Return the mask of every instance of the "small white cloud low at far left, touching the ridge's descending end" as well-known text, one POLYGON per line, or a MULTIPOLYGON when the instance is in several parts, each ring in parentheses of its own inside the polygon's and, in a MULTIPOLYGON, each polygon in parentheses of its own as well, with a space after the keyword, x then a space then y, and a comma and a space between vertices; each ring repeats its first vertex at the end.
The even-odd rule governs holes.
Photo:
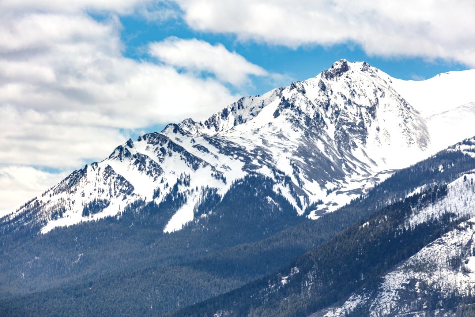
POLYGON ((45 192, 67 174, 49 173, 30 166, 0 166, 0 217, 15 211, 27 199, 45 192), (25 201, 19 202, 19 197, 24 197, 25 201))

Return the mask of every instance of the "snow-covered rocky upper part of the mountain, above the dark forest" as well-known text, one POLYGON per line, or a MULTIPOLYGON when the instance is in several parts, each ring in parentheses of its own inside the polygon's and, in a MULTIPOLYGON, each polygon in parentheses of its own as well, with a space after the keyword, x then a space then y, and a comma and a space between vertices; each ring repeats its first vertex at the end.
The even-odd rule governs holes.
POLYGON ((164 229, 172 232, 211 212, 197 213, 207 190, 223 196, 249 173, 273 178, 274 191, 299 214, 317 218, 395 169, 475 134, 475 93, 466 89, 475 71, 439 77, 406 82, 366 62, 337 61, 317 77, 243 97, 204 122, 189 118, 128 140, 0 226, 35 225, 47 233, 180 194, 181 207, 164 229))

